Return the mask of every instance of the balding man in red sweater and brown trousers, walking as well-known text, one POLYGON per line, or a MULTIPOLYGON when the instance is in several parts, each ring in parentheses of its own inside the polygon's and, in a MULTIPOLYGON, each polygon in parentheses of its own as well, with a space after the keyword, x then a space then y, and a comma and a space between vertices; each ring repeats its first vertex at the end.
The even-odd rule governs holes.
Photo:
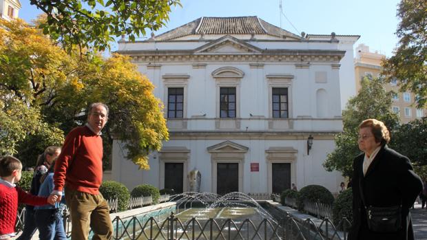
POLYGON ((94 232, 92 239, 112 239, 110 210, 99 193, 103 179, 101 130, 107 118, 107 105, 92 103, 87 123, 68 133, 56 160, 52 195, 60 201, 65 188, 65 201, 72 219, 72 240, 87 239, 90 228, 94 232))

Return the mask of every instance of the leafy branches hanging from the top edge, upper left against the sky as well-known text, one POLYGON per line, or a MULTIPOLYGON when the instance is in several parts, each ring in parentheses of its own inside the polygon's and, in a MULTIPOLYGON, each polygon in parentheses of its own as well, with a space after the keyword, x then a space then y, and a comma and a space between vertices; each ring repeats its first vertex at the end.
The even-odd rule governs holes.
POLYGON ((145 35, 146 29, 158 30, 169 20, 171 6, 180 0, 31 0, 47 14, 47 22, 40 25, 43 33, 58 39, 67 50, 105 50, 113 36, 127 34, 131 41, 145 35))

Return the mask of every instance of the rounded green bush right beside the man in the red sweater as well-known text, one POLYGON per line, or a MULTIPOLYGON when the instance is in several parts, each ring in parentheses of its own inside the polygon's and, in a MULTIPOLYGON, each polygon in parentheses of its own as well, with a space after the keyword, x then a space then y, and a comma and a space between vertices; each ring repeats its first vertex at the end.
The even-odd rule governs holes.
POLYGON ((125 185, 120 182, 105 181, 101 184, 101 187, 99 187, 99 191, 107 200, 118 199, 118 212, 127 210, 130 194, 125 185))

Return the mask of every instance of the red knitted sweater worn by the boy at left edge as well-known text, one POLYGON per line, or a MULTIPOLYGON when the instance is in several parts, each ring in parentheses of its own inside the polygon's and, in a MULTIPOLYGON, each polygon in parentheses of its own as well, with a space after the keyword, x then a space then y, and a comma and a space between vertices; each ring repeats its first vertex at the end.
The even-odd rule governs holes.
POLYGON ((0 184, 0 235, 15 232, 18 203, 42 206, 48 204, 48 198, 30 195, 19 187, 0 184))

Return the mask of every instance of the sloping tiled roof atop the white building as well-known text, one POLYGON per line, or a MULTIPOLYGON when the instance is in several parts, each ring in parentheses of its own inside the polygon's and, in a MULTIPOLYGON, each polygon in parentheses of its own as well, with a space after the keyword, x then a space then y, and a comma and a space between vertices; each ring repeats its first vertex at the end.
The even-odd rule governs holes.
POLYGON ((156 36, 156 40, 177 39, 191 34, 267 34, 272 36, 300 36, 276 27, 256 16, 250 17, 202 17, 178 28, 156 36))

